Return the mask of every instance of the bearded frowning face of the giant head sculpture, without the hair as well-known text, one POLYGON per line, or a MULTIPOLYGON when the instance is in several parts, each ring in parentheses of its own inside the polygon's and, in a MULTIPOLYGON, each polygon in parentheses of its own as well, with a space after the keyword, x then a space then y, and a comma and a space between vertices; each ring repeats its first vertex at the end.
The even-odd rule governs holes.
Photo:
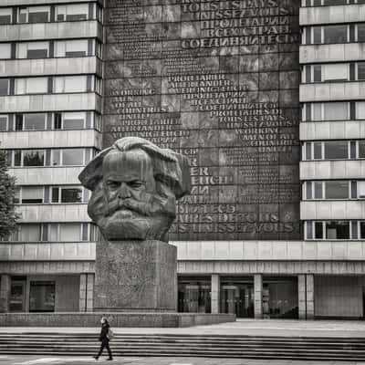
POLYGON ((175 197, 156 183, 151 157, 140 149, 110 151, 102 175, 89 202, 102 234, 109 240, 162 240, 174 219, 175 197))

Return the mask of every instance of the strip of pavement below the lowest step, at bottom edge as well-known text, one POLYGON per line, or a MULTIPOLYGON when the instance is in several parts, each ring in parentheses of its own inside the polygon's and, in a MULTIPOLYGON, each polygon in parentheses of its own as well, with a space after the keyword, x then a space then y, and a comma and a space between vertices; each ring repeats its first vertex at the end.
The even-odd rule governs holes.
POLYGON ((56 356, 1 356, 0 365, 358 365, 365 362, 354 361, 297 361, 297 360, 240 360, 208 358, 131 358, 120 357, 113 361, 100 358, 98 361, 89 357, 56 356))

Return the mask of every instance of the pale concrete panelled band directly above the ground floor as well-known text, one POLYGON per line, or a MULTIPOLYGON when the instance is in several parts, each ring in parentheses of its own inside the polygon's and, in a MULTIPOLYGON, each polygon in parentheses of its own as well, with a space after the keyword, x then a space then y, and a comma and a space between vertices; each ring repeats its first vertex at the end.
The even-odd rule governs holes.
MULTIPOLYGON (((179 241, 171 244, 177 246, 177 258, 181 261, 359 261, 365 255, 364 241, 179 241)), ((0 261, 83 260, 95 260, 95 243, 0 245, 0 261)))

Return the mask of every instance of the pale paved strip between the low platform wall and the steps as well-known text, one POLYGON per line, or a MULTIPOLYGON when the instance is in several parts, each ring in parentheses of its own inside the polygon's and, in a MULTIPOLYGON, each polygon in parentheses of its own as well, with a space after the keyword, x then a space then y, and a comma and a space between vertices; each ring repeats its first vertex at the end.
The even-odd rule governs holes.
MULTIPOLYGON (((112 320, 110 321, 112 327, 112 320)), ((113 328, 113 327, 112 327, 113 328)), ((233 323, 193 328, 113 328, 116 334, 169 334, 275 337, 351 337, 365 338, 365 321, 237 319, 233 323)), ((98 333, 95 328, 18 328, 3 327, 0 333, 98 333)))

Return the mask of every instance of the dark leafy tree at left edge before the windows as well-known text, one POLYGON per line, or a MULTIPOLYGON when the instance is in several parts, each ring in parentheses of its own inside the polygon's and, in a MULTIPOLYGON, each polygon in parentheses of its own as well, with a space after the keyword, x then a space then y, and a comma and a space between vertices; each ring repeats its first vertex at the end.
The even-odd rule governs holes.
POLYGON ((0 151, 0 238, 16 230, 16 178, 10 176, 5 151, 0 151))

